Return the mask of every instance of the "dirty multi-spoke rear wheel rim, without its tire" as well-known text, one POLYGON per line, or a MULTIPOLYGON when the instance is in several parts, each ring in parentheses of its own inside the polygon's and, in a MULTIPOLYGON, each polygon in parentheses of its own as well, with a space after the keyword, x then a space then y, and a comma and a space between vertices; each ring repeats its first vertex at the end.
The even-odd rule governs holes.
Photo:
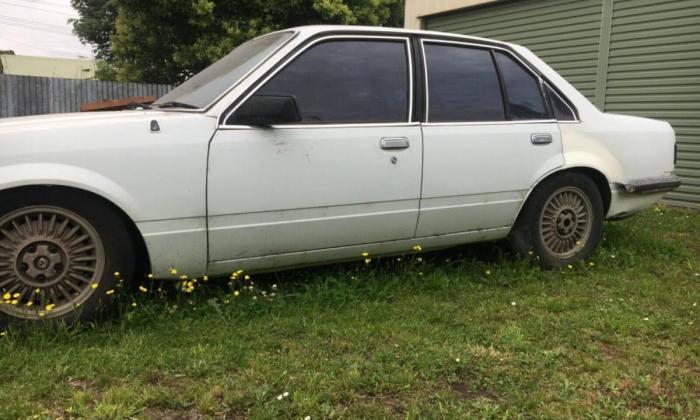
POLYGON ((578 188, 560 188, 547 199, 540 216, 540 235, 549 252, 568 258, 581 251, 591 236, 593 206, 578 188))

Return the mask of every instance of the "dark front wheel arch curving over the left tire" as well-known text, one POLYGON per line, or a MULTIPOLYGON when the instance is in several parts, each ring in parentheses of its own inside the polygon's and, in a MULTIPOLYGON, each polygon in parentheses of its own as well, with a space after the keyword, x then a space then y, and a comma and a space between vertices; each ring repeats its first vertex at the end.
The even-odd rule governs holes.
POLYGON ((146 246, 146 241, 136 226, 136 222, 127 214, 127 212, 119 205, 114 203, 112 200, 104 197, 101 194, 89 191, 83 188, 78 188, 74 186, 67 186, 61 184, 28 184, 13 186, 9 188, 4 188, 0 190, 0 200, 2 197, 15 193, 15 194, 41 194, 47 190, 52 191, 63 190, 65 193, 74 193, 86 197, 89 200, 100 201, 104 205, 110 207, 114 212, 120 217, 120 219, 127 226, 129 237, 131 238, 132 244, 134 245, 134 251, 136 253, 136 269, 137 274, 149 273, 151 269, 151 259, 146 246))

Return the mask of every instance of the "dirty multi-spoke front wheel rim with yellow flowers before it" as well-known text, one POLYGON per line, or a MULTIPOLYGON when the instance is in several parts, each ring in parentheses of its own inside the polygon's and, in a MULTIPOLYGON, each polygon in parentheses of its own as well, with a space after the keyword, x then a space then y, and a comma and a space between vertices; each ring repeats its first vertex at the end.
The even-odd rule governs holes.
POLYGON ((0 219, 0 311, 17 318, 74 311, 102 278, 97 231, 57 207, 26 207, 0 219))

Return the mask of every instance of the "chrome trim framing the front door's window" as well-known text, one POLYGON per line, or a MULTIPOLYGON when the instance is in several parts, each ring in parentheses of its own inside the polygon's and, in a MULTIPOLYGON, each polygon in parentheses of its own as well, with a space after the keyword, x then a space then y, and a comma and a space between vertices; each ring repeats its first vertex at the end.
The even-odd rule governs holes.
POLYGON ((345 40, 390 40, 390 41, 403 41, 404 48, 406 51, 406 68, 408 70, 408 80, 406 87, 408 89, 408 109, 407 109, 407 114, 406 114, 406 121, 395 121, 395 122, 387 122, 387 123, 315 123, 315 124, 280 124, 280 125, 273 125, 272 128, 343 128, 343 127, 387 127, 387 126, 406 126, 406 125, 414 125, 416 124, 413 119, 413 101, 414 101, 414 86, 413 86, 413 80, 414 80, 414 69, 413 69, 413 49, 411 48, 411 37, 410 36, 393 36, 393 35, 349 35, 349 34, 343 34, 343 35, 324 35, 318 38, 313 39, 311 42, 307 43, 306 45, 300 47, 297 51, 295 51, 291 56, 288 58, 284 59, 281 61, 280 64, 277 65, 273 71, 268 73, 267 75, 261 77, 260 79, 256 80, 253 86, 249 89, 249 92, 246 93, 244 96, 241 97, 241 99, 236 98, 236 104, 233 106, 230 110, 225 111, 224 117, 219 118, 219 128, 222 129, 259 129, 259 127, 254 127, 251 125, 241 125, 241 124, 226 124, 226 121, 233 115, 238 108, 243 105, 251 96, 255 95, 255 93, 260 90, 260 88, 265 85, 270 79, 272 79, 277 73, 285 69, 292 61, 294 61, 298 56, 309 50, 311 47, 314 45, 317 45, 319 43, 328 41, 328 40, 333 40, 333 39, 345 39, 345 40))

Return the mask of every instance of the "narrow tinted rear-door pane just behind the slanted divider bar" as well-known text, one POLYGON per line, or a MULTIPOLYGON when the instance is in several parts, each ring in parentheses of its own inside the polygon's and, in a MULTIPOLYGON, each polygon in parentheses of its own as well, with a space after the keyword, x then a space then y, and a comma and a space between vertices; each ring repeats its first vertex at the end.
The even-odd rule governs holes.
POLYGON ((508 55, 496 52, 495 56, 506 88, 510 119, 548 119, 537 78, 508 55))

